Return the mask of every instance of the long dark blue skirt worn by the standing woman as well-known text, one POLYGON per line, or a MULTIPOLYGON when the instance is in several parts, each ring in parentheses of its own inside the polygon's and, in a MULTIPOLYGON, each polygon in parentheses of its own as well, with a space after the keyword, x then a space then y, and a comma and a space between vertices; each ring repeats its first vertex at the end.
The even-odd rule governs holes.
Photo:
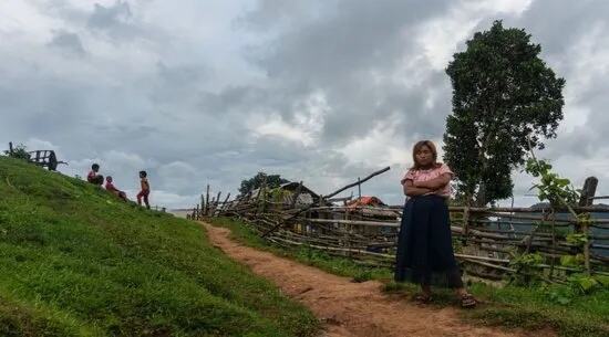
POLYGON ((395 254, 395 281, 463 287, 453 253, 445 198, 419 196, 404 206, 395 254))

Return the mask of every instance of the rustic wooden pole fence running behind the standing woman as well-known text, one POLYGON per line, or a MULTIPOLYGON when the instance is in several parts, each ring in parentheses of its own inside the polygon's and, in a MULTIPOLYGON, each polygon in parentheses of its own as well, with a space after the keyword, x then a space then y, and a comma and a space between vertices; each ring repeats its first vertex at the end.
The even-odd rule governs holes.
MULTIPOLYGON (((402 207, 328 202, 336 194, 303 206, 295 201, 298 191, 291 199, 277 200, 261 188, 255 196, 231 201, 227 196, 219 201, 220 193, 209 200, 208 187, 188 218, 235 217, 273 244, 306 246, 363 265, 391 267, 402 207)), ((585 222, 550 208, 448 207, 455 255, 466 274, 493 281, 528 275, 562 283, 571 273, 609 275, 609 208, 586 202, 574 208, 577 214, 591 215, 585 222), (534 259, 526 262, 525 257, 534 259)))

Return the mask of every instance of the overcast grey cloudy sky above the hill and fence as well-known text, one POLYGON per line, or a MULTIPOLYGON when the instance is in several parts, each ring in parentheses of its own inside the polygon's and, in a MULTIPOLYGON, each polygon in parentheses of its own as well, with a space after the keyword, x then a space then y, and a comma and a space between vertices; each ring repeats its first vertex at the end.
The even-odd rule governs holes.
POLYGON ((100 162, 132 198, 146 169, 167 207, 257 171, 328 193, 391 166, 363 192, 400 203, 413 143, 441 141, 447 62, 497 19, 567 81, 539 155, 609 194, 606 0, 2 0, 0 148, 55 149, 70 176, 100 162))

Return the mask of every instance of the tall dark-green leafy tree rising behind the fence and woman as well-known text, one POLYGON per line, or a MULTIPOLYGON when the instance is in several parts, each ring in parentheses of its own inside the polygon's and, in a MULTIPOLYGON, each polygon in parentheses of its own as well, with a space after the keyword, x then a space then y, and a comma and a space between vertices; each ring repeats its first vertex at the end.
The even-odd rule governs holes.
POLYGON ((562 119, 562 87, 539 59, 541 48, 523 29, 495 21, 476 32, 446 73, 453 112, 446 119, 444 160, 457 177, 457 193, 485 206, 512 196, 512 169, 524 164, 541 138, 556 137, 562 119))

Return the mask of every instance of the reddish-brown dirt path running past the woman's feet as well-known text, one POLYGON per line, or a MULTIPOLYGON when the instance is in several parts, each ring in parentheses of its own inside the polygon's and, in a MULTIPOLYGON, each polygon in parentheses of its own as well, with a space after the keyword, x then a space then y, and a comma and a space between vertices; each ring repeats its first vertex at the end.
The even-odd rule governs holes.
POLYGON ((505 337, 505 333, 462 322, 457 309, 421 307, 391 298, 381 283, 352 283, 349 278, 241 245, 228 238, 229 230, 204 224, 211 243, 248 265, 254 273, 277 284, 288 296, 308 306, 324 322, 328 337, 467 336, 505 337))

